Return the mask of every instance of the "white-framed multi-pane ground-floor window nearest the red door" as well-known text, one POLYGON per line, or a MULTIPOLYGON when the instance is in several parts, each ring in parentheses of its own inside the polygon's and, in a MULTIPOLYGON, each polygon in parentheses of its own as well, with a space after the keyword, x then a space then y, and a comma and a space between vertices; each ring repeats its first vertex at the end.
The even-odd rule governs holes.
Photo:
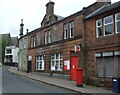
POLYGON ((60 53, 51 55, 51 70, 63 70, 63 61, 60 53))

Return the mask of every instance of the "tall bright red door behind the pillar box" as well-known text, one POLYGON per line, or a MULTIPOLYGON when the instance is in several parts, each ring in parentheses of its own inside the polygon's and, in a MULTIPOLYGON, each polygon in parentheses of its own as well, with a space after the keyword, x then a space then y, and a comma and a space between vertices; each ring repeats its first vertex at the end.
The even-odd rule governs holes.
POLYGON ((78 53, 70 53, 70 80, 76 80, 76 69, 78 68, 78 53))

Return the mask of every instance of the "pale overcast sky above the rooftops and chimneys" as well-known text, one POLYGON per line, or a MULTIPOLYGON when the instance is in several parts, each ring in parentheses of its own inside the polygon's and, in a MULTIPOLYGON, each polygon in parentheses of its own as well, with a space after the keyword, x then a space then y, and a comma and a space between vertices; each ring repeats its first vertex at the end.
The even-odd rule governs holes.
MULTIPOLYGON (((54 14, 67 17, 96 0, 51 0, 55 3, 54 14)), ((111 0, 112 3, 119 0, 111 0)), ((0 34, 10 33, 19 36, 20 23, 23 19, 24 34, 39 28, 46 13, 49 0, 0 0, 0 34)))

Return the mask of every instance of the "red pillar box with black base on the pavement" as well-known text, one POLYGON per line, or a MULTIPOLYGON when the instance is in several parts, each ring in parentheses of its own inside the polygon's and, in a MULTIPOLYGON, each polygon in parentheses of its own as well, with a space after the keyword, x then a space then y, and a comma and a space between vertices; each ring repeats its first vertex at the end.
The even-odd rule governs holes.
POLYGON ((77 68, 76 86, 83 87, 83 68, 77 68))

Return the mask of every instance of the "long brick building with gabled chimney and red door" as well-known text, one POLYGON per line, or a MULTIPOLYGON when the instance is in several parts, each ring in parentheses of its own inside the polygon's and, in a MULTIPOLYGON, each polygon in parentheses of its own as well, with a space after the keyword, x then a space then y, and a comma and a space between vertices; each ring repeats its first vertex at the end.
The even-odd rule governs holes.
POLYGON ((70 80, 76 80, 76 68, 82 64, 82 58, 74 48, 79 50, 84 45, 83 20, 108 3, 96 2, 63 18, 54 14, 54 2, 48 2, 41 27, 28 33, 28 57, 32 71, 70 74, 70 80))

